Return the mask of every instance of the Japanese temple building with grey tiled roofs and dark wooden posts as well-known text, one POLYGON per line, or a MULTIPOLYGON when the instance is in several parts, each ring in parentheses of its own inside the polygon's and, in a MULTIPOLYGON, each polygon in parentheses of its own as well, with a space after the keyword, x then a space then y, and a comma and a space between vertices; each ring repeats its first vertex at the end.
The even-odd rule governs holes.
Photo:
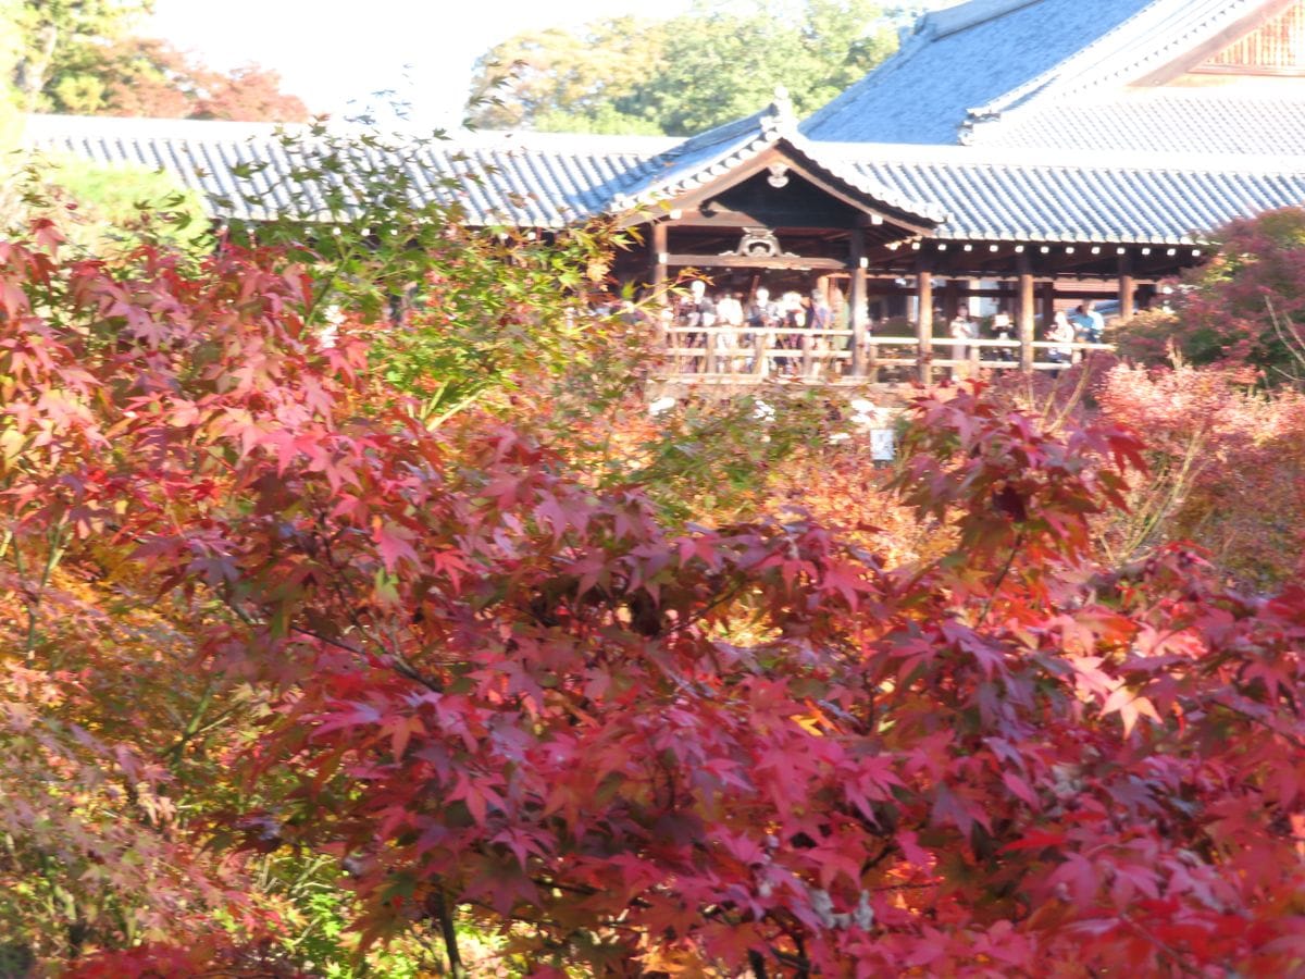
MULTIPOLYGON (((218 219, 257 217, 249 162, 271 164, 258 206, 284 200, 271 127, 43 116, 29 138, 163 167, 218 219)), ((745 298, 820 290, 857 376, 877 321, 908 324, 924 364, 934 309, 975 300, 1010 312, 1028 369, 1057 308, 1130 316, 1220 226, 1305 204, 1305 0, 970 0, 806 119, 778 91, 685 140, 470 134, 411 166, 432 193, 462 180, 472 222, 639 227, 616 274, 654 290, 686 268, 745 298)))

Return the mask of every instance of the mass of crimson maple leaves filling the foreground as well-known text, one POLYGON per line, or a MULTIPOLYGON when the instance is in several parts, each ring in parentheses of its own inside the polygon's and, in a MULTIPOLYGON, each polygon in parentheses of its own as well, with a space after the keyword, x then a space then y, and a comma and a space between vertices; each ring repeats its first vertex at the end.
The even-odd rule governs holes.
MULTIPOLYGON (((536 975, 1305 967, 1305 591, 1098 565, 1128 432, 919 399, 898 491, 957 544, 914 564, 799 512, 671 527, 377 397, 368 325, 321 343, 270 251, 40 234, 0 251, 10 595, 40 611, 64 542, 268 707, 249 795, 179 833, 330 854, 364 940, 433 922, 455 959, 463 909, 536 975)), ((72 974, 179 974, 177 928, 72 974)))

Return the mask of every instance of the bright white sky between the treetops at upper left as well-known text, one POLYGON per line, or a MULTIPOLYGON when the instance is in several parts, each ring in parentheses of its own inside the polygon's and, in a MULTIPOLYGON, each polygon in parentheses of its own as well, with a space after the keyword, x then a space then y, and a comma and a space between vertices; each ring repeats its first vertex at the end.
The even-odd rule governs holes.
POLYGON ((412 103, 415 124, 452 128, 462 121, 472 63, 500 40, 622 13, 671 17, 688 7, 689 0, 155 0, 142 33, 214 68, 247 61, 274 68, 282 90, 313 112, 356 115, 371 93, 394 89, 412 103))

